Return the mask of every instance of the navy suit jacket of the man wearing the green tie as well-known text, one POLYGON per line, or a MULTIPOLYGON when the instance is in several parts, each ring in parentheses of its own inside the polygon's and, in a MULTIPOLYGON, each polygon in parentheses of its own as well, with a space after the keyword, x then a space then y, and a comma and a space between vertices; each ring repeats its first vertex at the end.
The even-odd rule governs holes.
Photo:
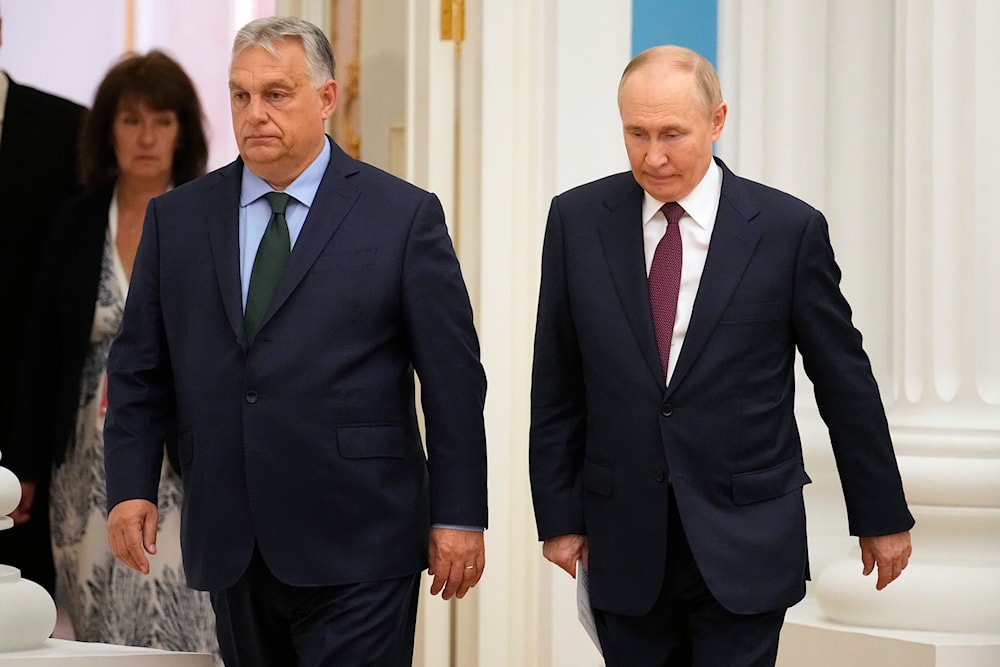
POLYGON ((150 203, 109 360, 108 506, 155 499, 176 427, 195 588, 235 582, 254 543, 296 586, 416 573, 432 521, 486 526, 486 381, 440 203, 334 144, 251 346, 242 169, 150 203))

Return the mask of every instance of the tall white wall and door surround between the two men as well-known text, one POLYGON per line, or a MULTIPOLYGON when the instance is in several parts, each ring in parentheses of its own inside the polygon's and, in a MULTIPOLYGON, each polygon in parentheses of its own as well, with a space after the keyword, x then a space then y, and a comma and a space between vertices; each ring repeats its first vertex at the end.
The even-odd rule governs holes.
POLYGON ((605 0, 484 0, 481 24, 469 27, 470 40, 481 32, 481 51, 474 43, 463 49, 463 60, 480 59, 478 118, 461 119, 463 142, 477 150, 474 161, 461 153, 459 197, 477 201, 477 219, 463 213, 461 224, 479 227, 490 529, 486 575, 475 593, 478 646, 458 665, 603 664, 576 619, 573 580, 541 557, 528 484, 528 398, 549 201, 627 168, 615 100, 630 55, 630 8, 605 0), (478 178, 471 187, 470 178, 478 178))

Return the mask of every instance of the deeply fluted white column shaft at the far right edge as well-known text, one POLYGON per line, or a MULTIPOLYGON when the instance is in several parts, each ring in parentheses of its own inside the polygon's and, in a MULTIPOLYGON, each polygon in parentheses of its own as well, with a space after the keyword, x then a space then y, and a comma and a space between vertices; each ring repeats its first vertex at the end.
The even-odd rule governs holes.
POLYGON ((1000 234, 992 184, 978 178, 986 165, 975 158, 995 162, 1000 150, 1000 135, 987 129, 1000 92, 978 85, 989 82, 984 70, 995 80, 1000 69, 1000 12, 995 3, 938 0, 903 3, 897 19, 890 418, 911 502, 1000 510, 1000 234), (914 78, 920 85, 905 85, 914 78), (955 478, 944 479, 937 458, 952 459, 955 478))

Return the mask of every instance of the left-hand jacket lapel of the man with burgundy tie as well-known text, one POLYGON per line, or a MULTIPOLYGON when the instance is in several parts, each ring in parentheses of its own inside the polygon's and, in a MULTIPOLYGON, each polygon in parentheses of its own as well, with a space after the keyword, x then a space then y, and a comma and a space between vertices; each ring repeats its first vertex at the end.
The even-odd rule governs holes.
POLYGON ((605 199, 604 205, 609 214, 598 222, 597 232, 625 317, 653 379, 662 385, 663 369, 649 307, 649 283, 642 239, 642 199, 642 188, 628 174, 627 185, 605 199))

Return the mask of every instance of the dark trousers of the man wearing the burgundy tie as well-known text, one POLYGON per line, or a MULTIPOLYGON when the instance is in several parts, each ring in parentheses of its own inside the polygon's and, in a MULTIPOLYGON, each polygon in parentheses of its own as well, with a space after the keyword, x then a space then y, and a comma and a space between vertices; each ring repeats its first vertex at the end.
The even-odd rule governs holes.
POLYGON ((653 609, 644 616, 594 610, 607 666, 773 667, 785 610, 726 610, 702 579, 673 492, 667 521, 666 573, 653 609))

